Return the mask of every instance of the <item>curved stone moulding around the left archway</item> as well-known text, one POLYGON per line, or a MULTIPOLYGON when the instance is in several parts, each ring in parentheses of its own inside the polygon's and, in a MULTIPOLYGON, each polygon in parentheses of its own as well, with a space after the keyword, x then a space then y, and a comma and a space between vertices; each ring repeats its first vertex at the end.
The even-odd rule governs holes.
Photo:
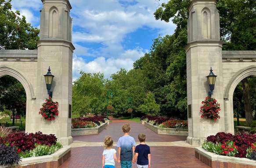
POLYGON ((20 73, 16 68, 10 66, 0 66, 0 77, 3 77, 5 75, 16 78, 22 84, 26 91, 27 98, 30 98, 31 100, 36 99, 32 85, 29 84, 25 76, 20 73))

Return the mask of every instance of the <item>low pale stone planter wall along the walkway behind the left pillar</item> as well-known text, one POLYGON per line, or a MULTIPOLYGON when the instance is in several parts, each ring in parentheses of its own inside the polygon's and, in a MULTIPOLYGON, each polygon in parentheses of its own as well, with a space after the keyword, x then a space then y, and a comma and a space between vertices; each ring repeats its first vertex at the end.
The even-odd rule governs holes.
POLYGON ((72 136, 80 136, 80 135, 92 135, 98 134, 103 131, 108 126, 108 123, 103 123, 101 126, 96 126, 94 128, 76 128, 71 129, 72 136))

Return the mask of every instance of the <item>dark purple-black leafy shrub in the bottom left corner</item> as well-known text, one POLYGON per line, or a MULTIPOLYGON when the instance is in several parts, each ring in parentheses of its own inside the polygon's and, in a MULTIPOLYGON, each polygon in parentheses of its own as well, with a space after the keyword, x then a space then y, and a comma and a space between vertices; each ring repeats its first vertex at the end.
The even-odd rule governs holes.
POLYGON ((15 147, 0 144, 0 166, 8 166, 18 164, 20 157, 15 147))

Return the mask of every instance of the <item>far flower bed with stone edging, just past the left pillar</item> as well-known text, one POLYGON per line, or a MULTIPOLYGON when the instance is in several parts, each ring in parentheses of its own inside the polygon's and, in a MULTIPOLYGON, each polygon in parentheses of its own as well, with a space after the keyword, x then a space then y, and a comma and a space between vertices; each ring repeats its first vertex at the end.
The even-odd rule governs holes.
POLYGON ((108 123, 104 116, 81 117, 72 119, 72 136, 91 135, 100 133, 108 123))

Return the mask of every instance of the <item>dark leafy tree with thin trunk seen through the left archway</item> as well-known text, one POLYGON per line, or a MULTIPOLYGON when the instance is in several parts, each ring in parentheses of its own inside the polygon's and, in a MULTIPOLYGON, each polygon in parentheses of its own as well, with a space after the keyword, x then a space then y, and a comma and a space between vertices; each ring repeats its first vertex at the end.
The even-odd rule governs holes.
POLYGON ((11 110, 12 125, 14 126, 15 115, 25 115, 26 93, 22 84, 11 76, 0 78, 0 108, 11 110))

